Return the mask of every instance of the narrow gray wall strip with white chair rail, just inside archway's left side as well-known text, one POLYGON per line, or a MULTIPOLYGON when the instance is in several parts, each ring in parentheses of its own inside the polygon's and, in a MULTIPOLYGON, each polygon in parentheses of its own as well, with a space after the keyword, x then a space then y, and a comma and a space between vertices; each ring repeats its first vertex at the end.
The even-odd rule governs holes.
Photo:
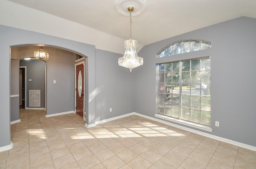
MULTIPOLYGON (((20 75, 20 69, 19 69, 19 60, 11 60, 11 95, 19 95, 19 75, 20 75), (18 79, 18 81, 17 81, 18 79)), ((14 96, 10 98, 11 105, 11 122, 15 120, 20 119, 20 100, 19 96, 14 96)))

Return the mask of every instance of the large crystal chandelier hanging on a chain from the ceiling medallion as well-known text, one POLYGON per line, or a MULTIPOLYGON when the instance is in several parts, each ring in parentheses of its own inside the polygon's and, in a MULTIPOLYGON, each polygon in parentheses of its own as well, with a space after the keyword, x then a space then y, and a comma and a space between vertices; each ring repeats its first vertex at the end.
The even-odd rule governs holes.
POLYGON ((132 39, 132 11, 133 10, 134 10, 134 7, 132 6, 128 7, 128 11, 130 12, 130 39, 127 39, 124 41, 124 47, 126 48, 126 50, 125 50, 124 56, 118 59, 118 64, 120 66, 130 69, 130 72, 132 72, 133 68, 143 65, 143 58, 138 57, 136 53, 137 41, 135 39, 132 39))

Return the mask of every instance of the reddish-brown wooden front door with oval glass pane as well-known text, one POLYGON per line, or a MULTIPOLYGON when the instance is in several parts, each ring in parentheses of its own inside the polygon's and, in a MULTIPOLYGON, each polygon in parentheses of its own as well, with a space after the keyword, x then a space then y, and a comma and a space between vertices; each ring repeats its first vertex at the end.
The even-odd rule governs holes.
POLYGON ((84 117, 84 65, 76 65, 76 114, 84 117))

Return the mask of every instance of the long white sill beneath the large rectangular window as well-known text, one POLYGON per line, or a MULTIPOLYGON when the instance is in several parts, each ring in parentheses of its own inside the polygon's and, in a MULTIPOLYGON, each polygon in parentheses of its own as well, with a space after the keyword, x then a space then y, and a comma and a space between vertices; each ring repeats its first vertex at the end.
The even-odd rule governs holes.
POLYGON ((198 129, 201 129, 201 130, 206 130, 208 132, 212 132, 212 128, 210 128, 209 126, 204 126, 202 124, 187 122, 185 120, 180 120, 180 119, 164 116, 162 114, 154 114, 154 116, 157 117, 157 118, 162 118, 164 120, 171 121, 171 122, 176 122, 176 123, 183 124, 183 125, 186 125, 186 126, 190 126, 190 127, 198 128, 198 129))

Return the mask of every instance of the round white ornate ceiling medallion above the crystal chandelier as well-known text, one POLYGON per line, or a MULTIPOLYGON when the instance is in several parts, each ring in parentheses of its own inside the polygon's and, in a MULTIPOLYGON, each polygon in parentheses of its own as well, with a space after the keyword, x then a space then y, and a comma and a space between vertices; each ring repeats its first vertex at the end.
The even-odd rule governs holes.
POLYGON ((133 7, 132 16, 138 16, 146 10, 147 2, 145 0, 116 0, 114 6, 116 11, 123 16, 130 16, 127 9, 133 7))

